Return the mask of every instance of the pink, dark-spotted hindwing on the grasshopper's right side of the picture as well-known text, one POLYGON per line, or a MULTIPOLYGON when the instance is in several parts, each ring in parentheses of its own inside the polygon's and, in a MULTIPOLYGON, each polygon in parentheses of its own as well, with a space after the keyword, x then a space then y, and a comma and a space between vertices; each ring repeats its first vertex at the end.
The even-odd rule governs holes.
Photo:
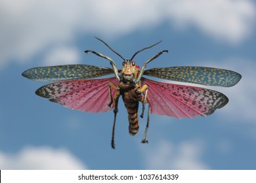
POLYGON ((148 85, 147 100, 154 114, 176 118, 208 116, 228 103, 223 93, 194 86, 168 84, 142 78, 148 85))

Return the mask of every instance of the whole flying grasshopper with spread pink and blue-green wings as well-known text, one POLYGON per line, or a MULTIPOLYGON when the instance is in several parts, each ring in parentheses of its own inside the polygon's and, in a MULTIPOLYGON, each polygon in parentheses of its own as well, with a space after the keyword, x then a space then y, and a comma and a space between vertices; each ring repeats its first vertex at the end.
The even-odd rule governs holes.
MULTIPOLYGON (((98 40, 108 46, 106 42, 101 39, 98 40)), ((139 131, 139 103, 142 103, 141 118, 144 116, 145 105, 148 103, 147 124, 142 143, 148 142, 146 135, 150 113, 175 118, 194 118, 196 116, 208 116, 228 103, 228 98, 223 93, 214 90, 157 82, 144 78, 142 75, 223 87, 234 86, 242 77, 234 71, 211 67, 165 67, 146 70, 150 61, 158 58, 164 52, 168 52, 167 50, 158 52, 158 54, 145 61, 140 69, 133 58, 139 52, 152 48, 152 46, 135 52, 131 59, 124 59, 108 46, 110 50, 123 59, 121 70, 117 69, 116 63, 108 56, 93 50, 85 50, 86 53, 91 52, 96 56, 107 59, 110 61, 112 68, 94 65, 57 65, 35 67, 24 71, 22 75, 35 81, 54 81, 52 84, 42 86, 35 93, 65 107, 84 112, 106 112, 113 108, 112 148, 115 148, 114 133, 120 96, 127 108, 129 133, 131 135, 136 135, 139 131), (114 74, 114 77, 91 79, 110 74, 114 74)))

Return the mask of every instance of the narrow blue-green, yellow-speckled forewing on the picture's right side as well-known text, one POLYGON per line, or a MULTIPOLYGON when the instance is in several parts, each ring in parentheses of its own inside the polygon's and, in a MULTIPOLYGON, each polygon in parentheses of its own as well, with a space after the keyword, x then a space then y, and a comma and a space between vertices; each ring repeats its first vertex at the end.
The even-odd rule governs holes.
POLYGON ((234 86, 242 77, 234 71, 225 69, 191 66, 148 69, 144 71, 144 75, 179 82, 224 87, 234 86))

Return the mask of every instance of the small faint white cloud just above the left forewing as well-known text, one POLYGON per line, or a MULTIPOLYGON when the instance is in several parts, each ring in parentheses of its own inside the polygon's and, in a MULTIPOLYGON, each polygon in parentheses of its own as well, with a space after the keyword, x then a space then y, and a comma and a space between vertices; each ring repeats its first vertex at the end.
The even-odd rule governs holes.
POLYGON ((54 48, 45 55, 45 65, 64 65, 79 62, 79 52, 75 48, 54 48))

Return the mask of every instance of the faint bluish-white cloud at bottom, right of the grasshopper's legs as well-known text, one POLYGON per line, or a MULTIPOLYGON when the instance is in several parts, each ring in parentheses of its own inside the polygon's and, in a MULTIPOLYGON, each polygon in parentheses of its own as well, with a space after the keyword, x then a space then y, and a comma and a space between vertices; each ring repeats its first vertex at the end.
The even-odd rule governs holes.
POLYGON ((142 150, 146 169, 209 169, 203 163, 202 142, 184 141, 174 145, 160 141, 158 146, 142 150))

